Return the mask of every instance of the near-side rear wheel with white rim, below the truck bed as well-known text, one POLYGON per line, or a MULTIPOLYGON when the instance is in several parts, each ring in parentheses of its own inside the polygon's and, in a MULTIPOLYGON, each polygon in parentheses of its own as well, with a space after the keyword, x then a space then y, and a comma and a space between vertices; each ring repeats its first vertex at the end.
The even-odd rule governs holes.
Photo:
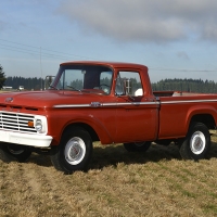
POLYGON ((180 155, 183 159, 206 158, 210 149, 210 135, 208 128, 202 123, 193 123, 187 137, 180 144, 180 155))

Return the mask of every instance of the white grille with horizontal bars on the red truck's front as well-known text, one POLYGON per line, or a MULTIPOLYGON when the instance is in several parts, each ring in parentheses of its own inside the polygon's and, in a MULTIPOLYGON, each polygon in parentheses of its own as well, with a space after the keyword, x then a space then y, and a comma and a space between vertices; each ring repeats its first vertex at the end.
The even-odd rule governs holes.
POLYGON ((0 112, 0 129, 36 133, 36 129, 28 126, 28 122, 34 122, 34 115, 0 112))

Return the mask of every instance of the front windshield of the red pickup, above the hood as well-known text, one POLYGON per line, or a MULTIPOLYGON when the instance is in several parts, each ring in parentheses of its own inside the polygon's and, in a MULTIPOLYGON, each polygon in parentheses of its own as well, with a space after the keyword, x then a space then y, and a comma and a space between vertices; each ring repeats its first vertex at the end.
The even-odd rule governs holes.
POLYGON ((51 88, 110 94, 113 71, 105 66, 61 65, 51 88))

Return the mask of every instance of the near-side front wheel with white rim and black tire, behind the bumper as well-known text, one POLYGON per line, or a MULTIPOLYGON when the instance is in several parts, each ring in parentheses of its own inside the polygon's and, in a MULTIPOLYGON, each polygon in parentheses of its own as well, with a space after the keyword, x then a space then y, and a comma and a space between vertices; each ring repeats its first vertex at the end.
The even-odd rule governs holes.
POLYGON ((64 132, 61 143, 51 149, 53 166, 65 174, 87 170, 92 156, 92 140, 82 128, 72 128, 64 132))

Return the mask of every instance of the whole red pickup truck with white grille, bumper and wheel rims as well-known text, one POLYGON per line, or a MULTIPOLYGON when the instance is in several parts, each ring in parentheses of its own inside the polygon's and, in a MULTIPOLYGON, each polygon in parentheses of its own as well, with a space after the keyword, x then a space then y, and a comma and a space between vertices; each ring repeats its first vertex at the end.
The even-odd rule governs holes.
POLYGON ((216 123, 217 94, 153 92, 144 65, 67 62, 49 90, 0 94, 0 158, 47 151, 56 169, 73 173, 87 169, 101 141, 138 152, 175 142, 184 159, 201 159, 216 123))

